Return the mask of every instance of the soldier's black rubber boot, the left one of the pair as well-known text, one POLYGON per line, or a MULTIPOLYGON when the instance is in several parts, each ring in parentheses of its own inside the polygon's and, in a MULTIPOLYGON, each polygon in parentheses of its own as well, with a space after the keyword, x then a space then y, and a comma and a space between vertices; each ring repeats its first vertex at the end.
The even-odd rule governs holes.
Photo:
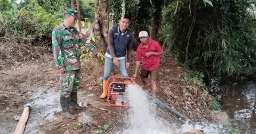
POLYGON ((60 106, 66 118, 72 120, 76 118, 76 116, 70 112, 70 97, 60 97, 60 106))

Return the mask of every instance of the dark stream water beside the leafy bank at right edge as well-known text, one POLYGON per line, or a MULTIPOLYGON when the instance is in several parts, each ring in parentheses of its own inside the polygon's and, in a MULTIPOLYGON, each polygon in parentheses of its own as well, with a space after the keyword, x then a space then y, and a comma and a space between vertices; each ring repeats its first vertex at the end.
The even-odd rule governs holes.
POLYGON ((218 98, 240 133, 256 133, 256 83, 228 81, 218 98))

